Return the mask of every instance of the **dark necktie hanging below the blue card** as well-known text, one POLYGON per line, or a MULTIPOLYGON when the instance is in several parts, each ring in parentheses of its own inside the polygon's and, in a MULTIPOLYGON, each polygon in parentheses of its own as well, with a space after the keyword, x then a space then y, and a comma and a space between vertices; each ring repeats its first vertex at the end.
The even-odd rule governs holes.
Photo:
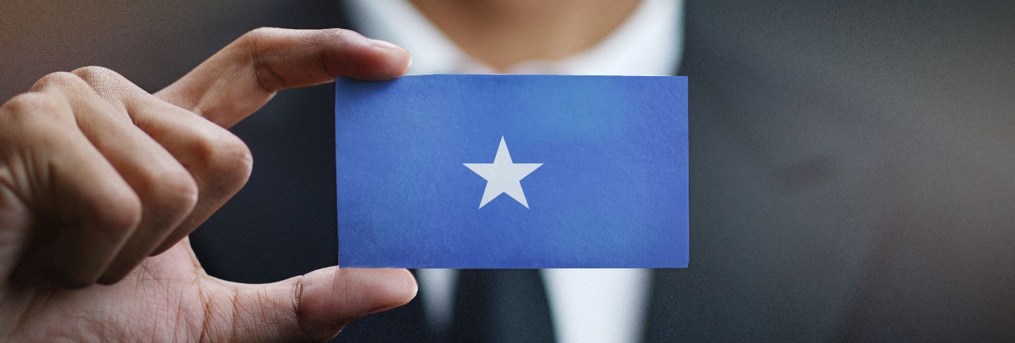
POLYGON ((466 269, 458 275, 448 342, 554 341, 539 270, 466 269))

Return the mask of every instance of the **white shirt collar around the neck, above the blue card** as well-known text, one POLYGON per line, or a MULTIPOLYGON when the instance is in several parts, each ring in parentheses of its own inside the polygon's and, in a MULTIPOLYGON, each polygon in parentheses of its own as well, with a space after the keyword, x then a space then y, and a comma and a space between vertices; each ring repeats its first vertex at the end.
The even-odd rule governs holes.
MULTIPOLYGON (((461 51, 405 0, 348 0, 365 36, 412 52, 410 74, 492 73, 461 51)), ((642 0, 630 17, 589 50, 558 61, 526 61, 513 74, 670 75, 683 44, 683 0, 642 0)))

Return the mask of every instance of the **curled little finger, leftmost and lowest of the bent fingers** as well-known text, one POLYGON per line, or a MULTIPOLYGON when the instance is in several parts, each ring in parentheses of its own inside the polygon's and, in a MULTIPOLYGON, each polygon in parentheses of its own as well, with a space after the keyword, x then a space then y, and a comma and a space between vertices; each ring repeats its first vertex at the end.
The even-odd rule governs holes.
POLYGON ((94 283, 141 220, 141 201, 74 123, 54 91, 8 101, 4 149, 23 176, 13 188, 41 219, 15 274, 71 286, 94 283), (13 104, 13 105, 11 105, 13 104))

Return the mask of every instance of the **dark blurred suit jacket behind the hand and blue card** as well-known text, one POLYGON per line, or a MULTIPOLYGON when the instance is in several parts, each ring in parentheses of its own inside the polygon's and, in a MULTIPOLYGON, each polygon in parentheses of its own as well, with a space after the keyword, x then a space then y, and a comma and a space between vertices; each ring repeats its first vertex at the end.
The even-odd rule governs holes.
MULTIPOLYGON (((336 1, 285 3, 207 21, 188 35, 215 44, 164 68, 260 25, 342 24, 336 1)), ((646 340, 1015 340, 1013 13, 688 0, 690 266, 655 272, 646 340)), ((332 89, 283 92, 233 129, 255 169, 192 235, 212 275, 335 264, 332 89)), ((418 306, 340 338, 422 340, 418 306)))

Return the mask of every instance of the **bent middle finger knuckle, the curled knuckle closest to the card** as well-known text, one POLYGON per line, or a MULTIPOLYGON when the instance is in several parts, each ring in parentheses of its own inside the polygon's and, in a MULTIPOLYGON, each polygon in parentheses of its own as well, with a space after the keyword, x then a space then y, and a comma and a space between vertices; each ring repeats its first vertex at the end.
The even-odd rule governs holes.
POLYGON ((204 166, 209 185, 231 193, 247 184, 254 165, 250 148, 224 129, 206 134, 194 142, 194 152, 204 166))

